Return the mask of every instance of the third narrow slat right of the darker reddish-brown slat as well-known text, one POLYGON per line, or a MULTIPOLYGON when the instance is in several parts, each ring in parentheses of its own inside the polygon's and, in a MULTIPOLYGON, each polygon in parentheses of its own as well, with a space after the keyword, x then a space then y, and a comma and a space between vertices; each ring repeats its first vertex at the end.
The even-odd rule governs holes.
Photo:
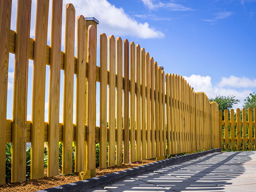
POLYGON ((146 78, 145 49, 140 50, 141 82, 141 159, 146 159, 146 78))

